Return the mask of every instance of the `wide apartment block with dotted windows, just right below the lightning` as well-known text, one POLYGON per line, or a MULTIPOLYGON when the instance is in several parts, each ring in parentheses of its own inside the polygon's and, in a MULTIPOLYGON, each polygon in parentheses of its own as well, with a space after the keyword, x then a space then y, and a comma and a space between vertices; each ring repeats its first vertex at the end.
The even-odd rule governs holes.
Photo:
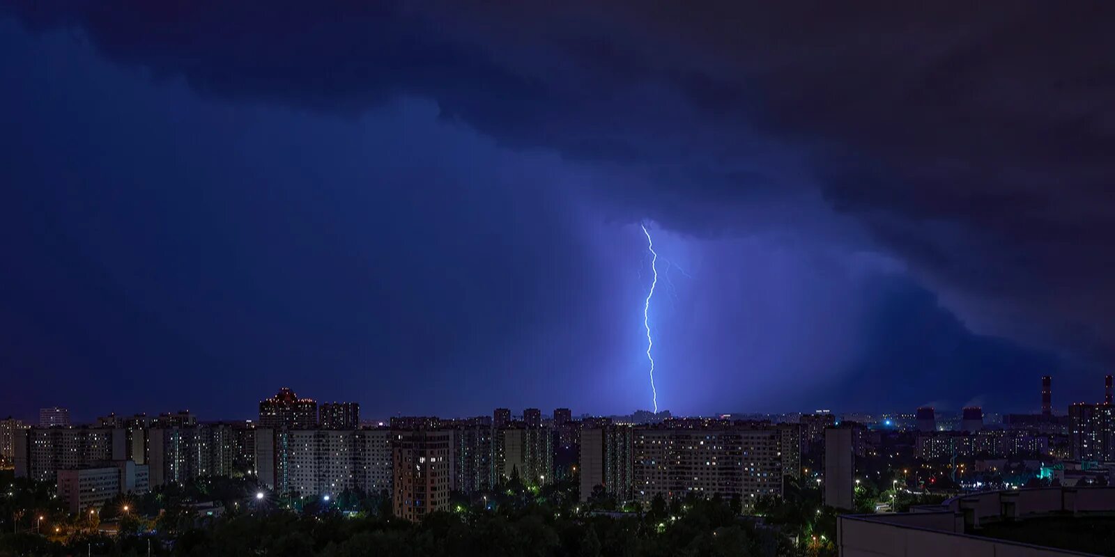
POLYGON ((688 495, 739 496, 749 508, 758 497, 782 496, 782 432, 775 428, 712 426, 634 429, 634 499, 649 505, 688 495))

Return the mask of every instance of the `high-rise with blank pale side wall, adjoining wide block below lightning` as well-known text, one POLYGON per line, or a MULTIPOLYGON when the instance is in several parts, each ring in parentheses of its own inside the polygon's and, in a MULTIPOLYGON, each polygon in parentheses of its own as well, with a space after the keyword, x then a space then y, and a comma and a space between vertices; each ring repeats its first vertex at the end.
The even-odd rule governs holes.
POLYGON ((588 500, 598 486, 620 502, 632 498, 633 442, 634 430, 631 426, 605 426, 581 431, 578 462, 581 467, 582 501, 588 500))

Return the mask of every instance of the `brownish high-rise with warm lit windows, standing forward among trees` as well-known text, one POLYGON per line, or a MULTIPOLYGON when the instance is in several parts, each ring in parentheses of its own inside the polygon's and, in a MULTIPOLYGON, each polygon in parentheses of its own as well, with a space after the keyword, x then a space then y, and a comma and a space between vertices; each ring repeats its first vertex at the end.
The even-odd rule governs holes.
POLYGON ((449 508, 452 431, 405 431, 394 447, 395 516, 418 521, 449 508))

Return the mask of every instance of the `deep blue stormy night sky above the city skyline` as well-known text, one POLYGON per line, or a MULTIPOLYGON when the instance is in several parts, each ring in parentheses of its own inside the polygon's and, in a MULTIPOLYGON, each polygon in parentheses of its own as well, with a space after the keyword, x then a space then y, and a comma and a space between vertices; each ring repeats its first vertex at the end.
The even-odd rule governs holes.
POLYGON ((755 6, 0 0, 0 414, 1098 400, 1115 4, 755 6))

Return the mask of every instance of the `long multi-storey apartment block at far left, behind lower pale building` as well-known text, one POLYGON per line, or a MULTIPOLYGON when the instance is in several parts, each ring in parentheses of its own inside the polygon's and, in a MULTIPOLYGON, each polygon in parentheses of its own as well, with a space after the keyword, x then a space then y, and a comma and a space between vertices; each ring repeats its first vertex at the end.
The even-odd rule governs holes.
POLYGON ((123 429, 30 428, 14 437, 17 478, 55 481, 58 470, 99 467, 125 460, 123 429))

